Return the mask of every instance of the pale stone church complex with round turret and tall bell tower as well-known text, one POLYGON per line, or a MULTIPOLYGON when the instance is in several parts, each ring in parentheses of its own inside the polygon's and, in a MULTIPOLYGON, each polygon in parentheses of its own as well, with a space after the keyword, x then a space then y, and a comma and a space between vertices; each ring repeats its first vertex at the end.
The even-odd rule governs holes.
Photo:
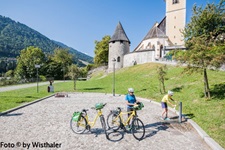
POLYGON ((156 22, 143 40, 130 52, 130 40, 121 22, 118 23, 109 41, 108 72, 113 68, 133 66, 161 61, 166 53, 174 49, 185 49, 181 31, 186 24, 186 0, 164 0, 166 14, 156 22))

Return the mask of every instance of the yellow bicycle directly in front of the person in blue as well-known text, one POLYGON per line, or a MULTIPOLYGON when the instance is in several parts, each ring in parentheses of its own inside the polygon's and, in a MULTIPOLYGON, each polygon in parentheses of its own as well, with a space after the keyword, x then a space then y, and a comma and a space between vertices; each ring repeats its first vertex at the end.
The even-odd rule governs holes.
POLYGON ((143 122, 138 118, 137 110, 141 110, 144 107, 143 103, 139 103, 137 106, 134 106, 134 109, 130 112, 122 112, 120 107, 117 107, 116 110, 111 110, 107 116, 107 125, 109 129, 117 131, 123 129, 125 132, 128 132, 126 126, 129 126, 130 120, 131 126, 130 131, 137 140, 142 140, 145 135, 145 126, 143 122), (123 118, 123 115, 130 113, 130 116, 127 119, 123 118))

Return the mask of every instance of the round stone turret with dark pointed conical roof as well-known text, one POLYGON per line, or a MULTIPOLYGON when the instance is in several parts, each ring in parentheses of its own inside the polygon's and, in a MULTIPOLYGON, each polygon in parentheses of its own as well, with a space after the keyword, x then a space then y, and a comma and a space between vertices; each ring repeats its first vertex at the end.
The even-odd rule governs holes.
POLYGON ((119 22, 112 38, 109 41, 108 72, 113 71, 113 63, 115 63, 115 69, 123 68, 124 55, 129 52, 130 40, 119 22))

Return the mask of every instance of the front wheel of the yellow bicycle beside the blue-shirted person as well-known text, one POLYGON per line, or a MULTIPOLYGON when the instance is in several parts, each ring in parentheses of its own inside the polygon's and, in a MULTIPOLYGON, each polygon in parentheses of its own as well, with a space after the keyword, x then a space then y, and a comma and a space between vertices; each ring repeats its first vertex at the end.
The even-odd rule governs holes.
POLYGON ((134 118, 131 124, 131 132, 135 139, 142 140, 145 135, 145 126, 139 118, 134 118))

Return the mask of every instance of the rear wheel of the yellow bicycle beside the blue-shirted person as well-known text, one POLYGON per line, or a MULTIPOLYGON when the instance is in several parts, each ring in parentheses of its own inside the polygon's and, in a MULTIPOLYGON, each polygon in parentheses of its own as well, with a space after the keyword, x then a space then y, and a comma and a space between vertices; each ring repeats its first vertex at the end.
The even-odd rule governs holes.
POLYGON ((107 116, 107 125, 109 129, 113 129, 114 131, 119 130, 120 122, 121 122, 120 116, 115 113, 110 113, 107 116))

